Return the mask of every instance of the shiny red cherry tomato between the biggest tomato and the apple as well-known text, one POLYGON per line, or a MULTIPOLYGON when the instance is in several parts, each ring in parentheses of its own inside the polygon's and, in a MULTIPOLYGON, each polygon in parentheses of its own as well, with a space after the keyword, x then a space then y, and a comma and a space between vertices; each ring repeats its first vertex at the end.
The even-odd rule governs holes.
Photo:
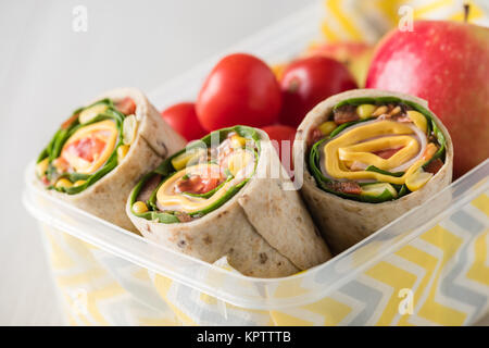
POLYGON ((319 101, 356 88, 356 83, 342 63, 326 57, 309 57, 285 69, 280 88, 283 107, 279 122, 297 127, 319 101))

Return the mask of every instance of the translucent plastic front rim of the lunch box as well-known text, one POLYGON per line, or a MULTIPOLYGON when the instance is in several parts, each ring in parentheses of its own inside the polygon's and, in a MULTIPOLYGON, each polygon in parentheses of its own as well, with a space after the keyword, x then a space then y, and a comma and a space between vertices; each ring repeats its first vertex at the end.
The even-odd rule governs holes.
POLYGON ((28 212, 37 220, 179 284, 237 307, 256 310, 276 310, 308 304, 325 297, 350 282, 358 273, 416 238, 428 227, 436 225, 454 210, 489 189, 488 159, 423 204, 410 210, 329 261, 287 277, 255 278, 229 272, 160 246, 60 200, 47 190, 37 187, 34 165, 34 162, 29 163, 25 171, 26 187, 23 192, 23 202, 28 212), (36 200, 38 199, 49 201, 60 214, 37 204, 36 200), (422 213, 427 211, 428 207, 430 213, 422 213), (75 222, 75 225, 68 222, 75 222), (380 249, 371 248, 379 241, 383 244, 380 249), (148 253, 148 251, 150 252, 148 253), (354 259, 356 260, 354 261, 354 259), (166 262, 164 262, 165 260, 166 262), (172 268, 168 260, 176 263, 177 268, 172 268), (195 270, 195 272, 183 273, 183 271, 188 272, 189 270, 195 270), (202 275, 204 276, 202 277, 202 275), (203 281, 206 277, 221 278, 225 283, 235 285, 246 285, 258 289, 258 295, 250 296, 247 291, 237 291, 237 288, 212 286, 209 282, 203 281), (277 297, 275 294, 278 287, 297 287, 304 284, 311 285, 311 283, 313 286, 305 286, 303 288, 305 291, 296 296, 277 297))

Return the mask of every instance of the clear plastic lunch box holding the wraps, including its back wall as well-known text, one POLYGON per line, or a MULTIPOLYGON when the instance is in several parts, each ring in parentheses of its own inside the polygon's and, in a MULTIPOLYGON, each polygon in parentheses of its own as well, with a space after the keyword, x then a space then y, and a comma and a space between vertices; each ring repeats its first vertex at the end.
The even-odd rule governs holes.
MULTIPOLYGON (((319 36, 321 17, 306 8, 228 51, 286 61, 319 36)), ((218 57, 150 100, 193 99, 218 57)), ((489 160, 330 261, 272 279, 158 246, 39 190, 34 163, 25 173, 71 324, 469 325, 489 312, 489 160)))

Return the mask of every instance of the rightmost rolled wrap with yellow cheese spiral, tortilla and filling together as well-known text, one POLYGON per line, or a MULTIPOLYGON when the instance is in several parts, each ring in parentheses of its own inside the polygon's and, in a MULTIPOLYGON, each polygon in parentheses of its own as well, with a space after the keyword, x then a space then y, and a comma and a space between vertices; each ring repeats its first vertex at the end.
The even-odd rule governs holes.
POLYGON ((452 179, 453 146, 427 102, 358 89, 333 96, 302 121, 301 194, 328 246, 340 252, 419 206, 452 179))

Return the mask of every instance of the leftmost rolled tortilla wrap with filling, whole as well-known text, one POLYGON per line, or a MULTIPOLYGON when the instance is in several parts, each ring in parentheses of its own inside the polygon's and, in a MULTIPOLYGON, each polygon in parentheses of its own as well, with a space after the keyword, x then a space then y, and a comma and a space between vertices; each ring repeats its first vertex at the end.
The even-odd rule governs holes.
POLYGON ((138 89, 105 92, 61 125, 40 153, 37 183, 52 195, 123 228, 130 190, 185 146, 138 89))

